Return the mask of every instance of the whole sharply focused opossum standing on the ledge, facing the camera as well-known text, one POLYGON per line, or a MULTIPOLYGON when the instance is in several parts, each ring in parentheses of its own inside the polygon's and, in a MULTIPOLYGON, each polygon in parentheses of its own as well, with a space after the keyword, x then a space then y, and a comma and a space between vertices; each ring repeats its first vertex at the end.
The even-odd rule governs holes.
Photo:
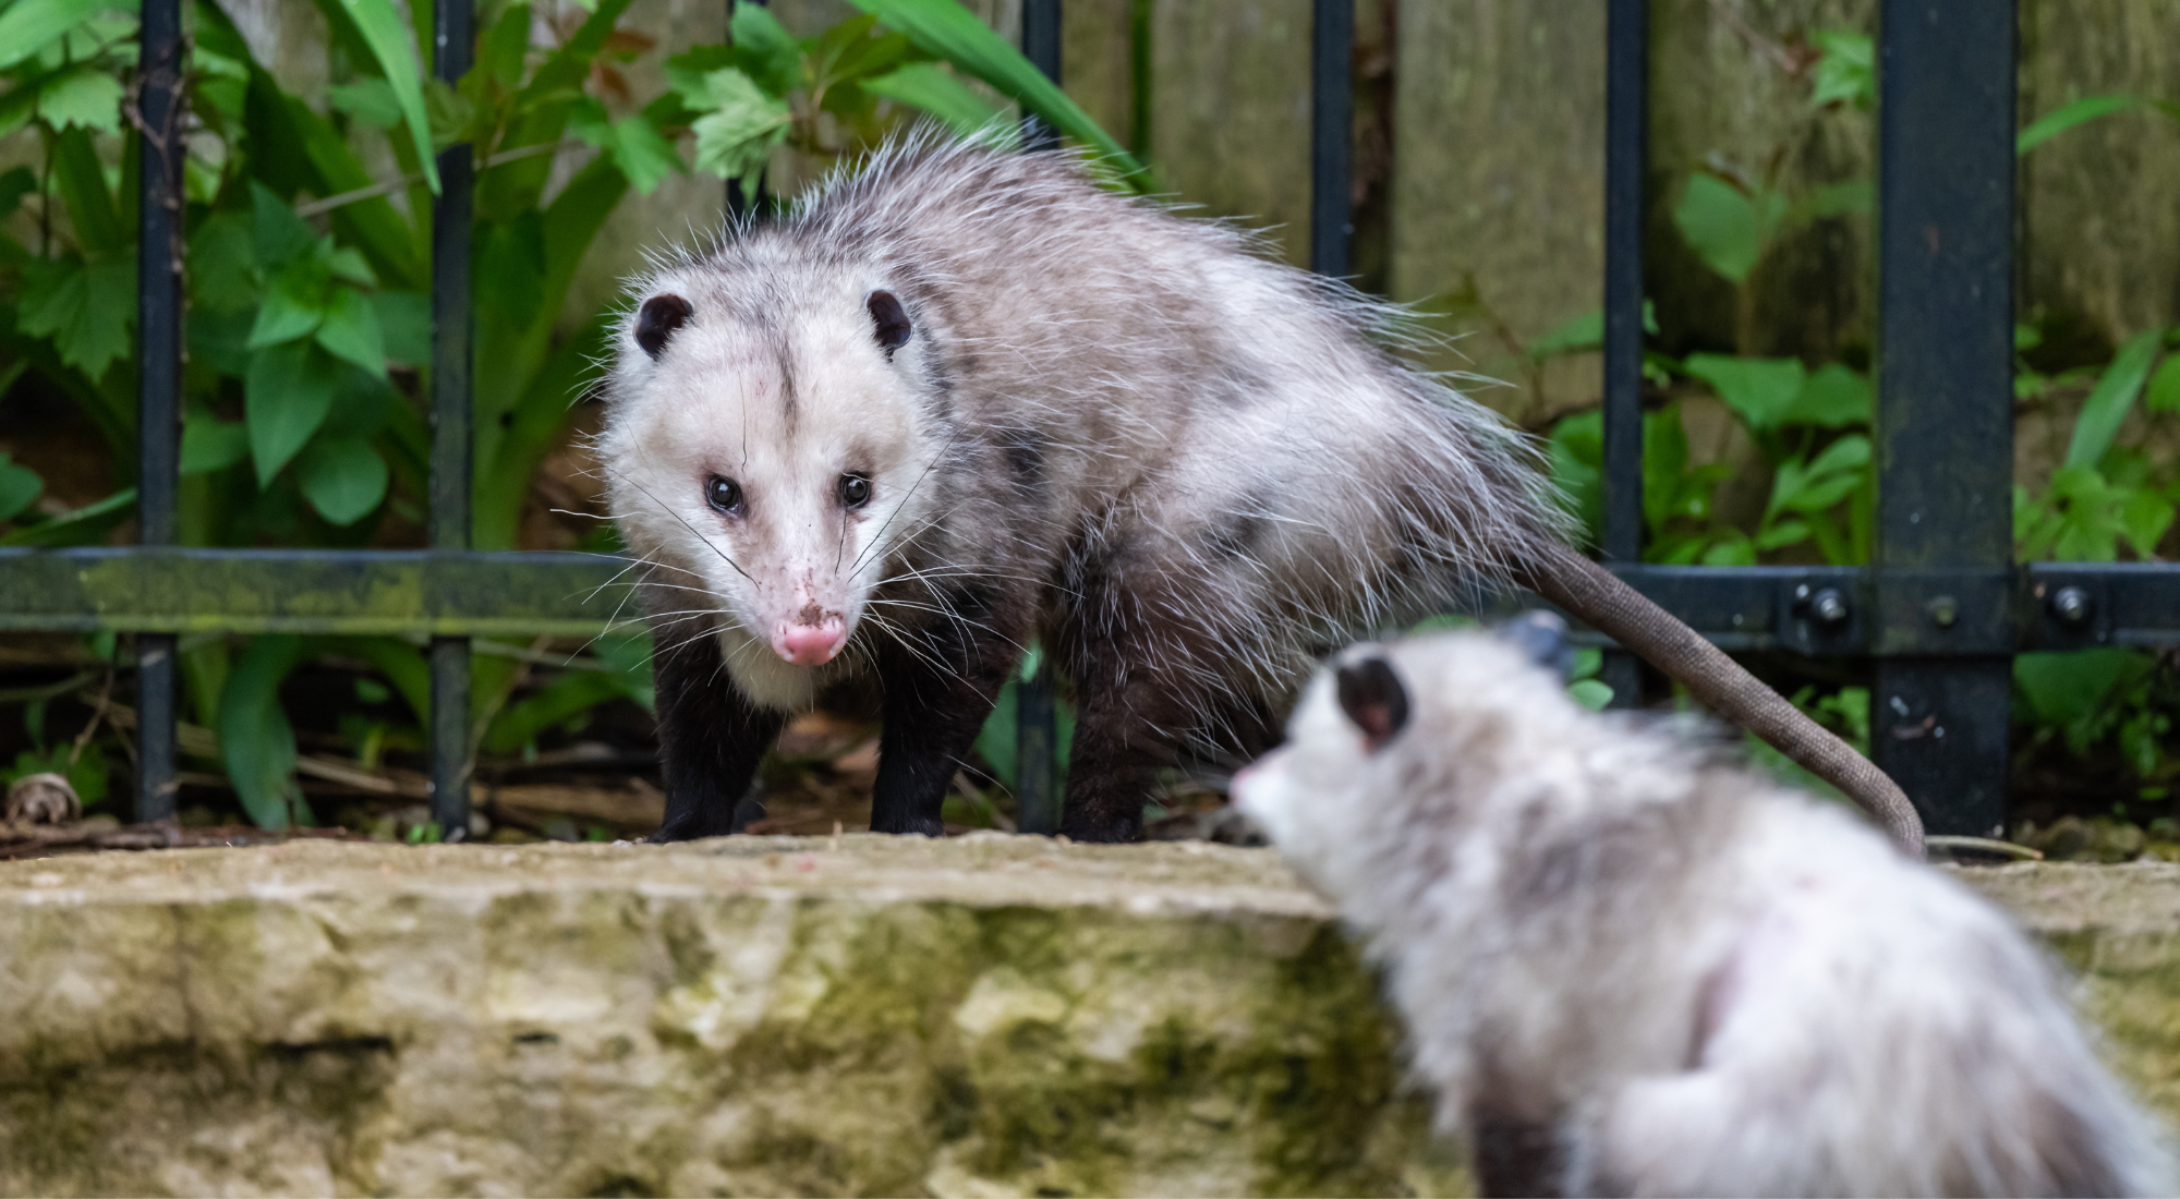
POLYGON ((728 831, 783 713, 885 691, 872 828, 937 833, 998 687, 1073 678, 1062 828, 1134 839, 1188 746, 1262 748, 1325 652, 1515 582, 1914 846, 1901 791, 1565 547, 1393 312, 1066 155, 909 140, 634 286, 600 443, 656 634, 667 820, 728 831))

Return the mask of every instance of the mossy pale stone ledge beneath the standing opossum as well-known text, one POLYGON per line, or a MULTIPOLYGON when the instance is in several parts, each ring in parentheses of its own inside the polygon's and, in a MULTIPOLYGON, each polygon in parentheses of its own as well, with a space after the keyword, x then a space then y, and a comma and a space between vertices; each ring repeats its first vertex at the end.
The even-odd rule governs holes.
MULTIPOLYGON (((2180 1110, 2180 865, 1969 879, 2180 1110)), ((0 1190, 1430 1195, 1269 850, 850 835, 0 865, 0 1190)))

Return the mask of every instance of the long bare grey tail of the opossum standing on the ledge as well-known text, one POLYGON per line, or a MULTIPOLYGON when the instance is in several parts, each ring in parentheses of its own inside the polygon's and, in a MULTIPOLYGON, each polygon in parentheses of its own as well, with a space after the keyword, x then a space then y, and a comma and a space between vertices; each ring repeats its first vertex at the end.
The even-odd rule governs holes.
POLYGON ((1546 549, 1526 573, 1522 582, 1537 595, 1681 680, 1711 711, 1868 809, 1901 850, 1923 857, 1923 818, 1899 785, 1696 630, 1572 549, 1546 549))

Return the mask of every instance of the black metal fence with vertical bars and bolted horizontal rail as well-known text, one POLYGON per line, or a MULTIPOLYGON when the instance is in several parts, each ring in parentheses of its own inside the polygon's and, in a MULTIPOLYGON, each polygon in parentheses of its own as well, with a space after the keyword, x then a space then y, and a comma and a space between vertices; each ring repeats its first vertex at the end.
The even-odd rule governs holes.
MULTIPOLYGON (((1881 0, 1877 536, 1868 567, 1642 565, 1642 229, 1648 0, 1609 2, 1604 209, 1604 556, 1727 650, 1875 661, 1873 754, 1931 833, 2006 815, 2019 650, 2180 641, 2180 567, 2012 562, 2014 11, 2008 0, 1881 0)), ((434 7, 434 70, 471 52, 471 4, 434 7)), ((1059 0, 1025 0, 1022 39, 1057 76, 1059 0)), ((440 155, 434 209, 432 549, 181 549, 179 0, 142 7, 142 547, 0 549, 0 630, 137 637, 137 818, 174 815, 174 650, 183 632, 401 632, 432 639, 434 818, 469 828, 469 639, 595 632, 615 558, 469 549, 467 146, 440 155)), ((1347 272, 1354 0, 1315 0, 1310 264, 1347 272)), ((1633 693, 1635 663, 1607 680, 1633 693)), ((1049 680, 1022 687, 1022 828, 1057 826, 1049 680), (1042 763, 1042 767, 1040 767, 1042 763)))

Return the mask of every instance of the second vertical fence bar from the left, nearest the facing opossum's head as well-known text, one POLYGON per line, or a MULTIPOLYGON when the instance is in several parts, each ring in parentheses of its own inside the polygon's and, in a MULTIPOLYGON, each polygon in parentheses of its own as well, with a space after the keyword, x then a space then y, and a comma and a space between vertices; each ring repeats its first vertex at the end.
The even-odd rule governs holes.
MULTIPOLYGON (((473 0, 432 9, 432 72, 458 83, 475 50, 473 0)), ((473 172, 469 146, 438 155, 440 194, 432 203, 432 547, 469 549, 471 314, 469 222, 473 172)), ((432 820, 440 837, 469 837, 469 639, 432 639, 432 820)))

